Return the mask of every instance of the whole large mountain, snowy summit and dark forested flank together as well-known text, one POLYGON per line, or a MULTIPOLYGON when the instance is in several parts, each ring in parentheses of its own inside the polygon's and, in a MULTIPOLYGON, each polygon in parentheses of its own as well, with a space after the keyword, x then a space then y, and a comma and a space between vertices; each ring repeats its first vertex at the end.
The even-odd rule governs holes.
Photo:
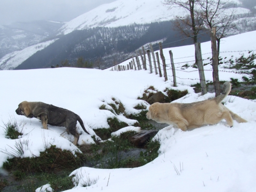
MULTIPOLYGON (((71 66, 76 66, 76 61, 81 57, 85 61, 95 63, 94 67, 102 68, 130 58, 136 49, 142 46, 148 48, 147 45, 150 42, 157 44, 161 41, 164 48, 192 44, 191 39, 173 30, 171 20, 175 16, 184 14, 187 12, 185 13, 182 9, 169 10, 161 3, 161 0, 117 0, 99 6, 70 22, 57 24, 52 22, 54 26, 55 24, 61 26, 58 30, 57 26, 47 28, 42 23, 40 24, 44 26, 41 27, 42 30, 28 25, 25 27, 29 29, 28 32, 38 36, 30 39, 32 41, 30 44, 20 39, 21 43, 27 43, 24 47, 34 45, 35 42, 57 38, 58 40, 48 44, 49 47, 45 49, 36 51, 34 49, 35 54, 32 55, 26 54, 25 51, 19 54, 16 52, 11 54, 13 57, 9 60, 5 59, 9 58, 9 55, 6 55, 0 59, 0 68, 6 69, 7 66, 9 69, 55 67, 66 60, 71 66), (48 29, 52 29, 49 34, 48 29), (37 41, 36 38, 38 38, 37 41), (181 41, 183 38, 185 39, 181 41), (23 62, 19 62, 20 65, 17 66, 18 59, 15 55, 23 54, 28 57, 22 57, 20 61, 23 62)), ((237 7, 236 17, 239 30, 233 32, 232 35, 256 30, 256 15, 249 9, 237 7)), ((201 42, 208 41, 209 35, 204 33, 198 38, 201 42)), ((35 47, 38 46, 41 45, 38 44, 35 47)), ((13 47, 19 49, 18 46, 13 47)), ((14 49, 13 47, 10 48, 14 49)), ((155 45, 155 47, 158 46, 155 45)))

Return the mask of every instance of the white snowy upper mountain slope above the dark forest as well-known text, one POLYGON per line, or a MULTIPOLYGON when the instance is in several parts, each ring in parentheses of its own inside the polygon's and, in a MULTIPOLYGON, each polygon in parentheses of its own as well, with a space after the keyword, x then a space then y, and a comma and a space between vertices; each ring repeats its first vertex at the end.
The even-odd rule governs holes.
MULTIPOLYGON (((169 10, 162 0, 117 0, 99 6, 70 22, 59 30, 59 34, 67 34, 73 30, 81 30, 96 26, 125 26, 132 23, 151 23, 172 20, 176 15, 188 14, 183 9, 169 10)), ((239 8, 237 14, 250 12, 239 8)))

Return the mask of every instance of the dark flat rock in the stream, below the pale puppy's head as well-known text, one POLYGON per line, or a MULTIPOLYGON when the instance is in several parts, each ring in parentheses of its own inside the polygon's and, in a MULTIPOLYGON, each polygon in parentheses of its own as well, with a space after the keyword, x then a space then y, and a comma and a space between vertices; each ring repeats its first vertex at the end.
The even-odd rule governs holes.
POLYGON ((129 140, 134 144, 134 146, 143 146, 148 142, 151 137, 154 137, 158 131, 154 130, 143 130, 139 134, 130 137, 129 140))

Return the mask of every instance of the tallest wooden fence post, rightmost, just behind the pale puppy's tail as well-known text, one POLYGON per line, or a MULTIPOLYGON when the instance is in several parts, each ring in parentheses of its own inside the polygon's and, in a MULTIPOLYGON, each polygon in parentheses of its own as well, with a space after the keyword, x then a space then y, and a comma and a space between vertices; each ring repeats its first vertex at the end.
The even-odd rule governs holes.
POLYGON ((218 52, 217 52, 217 44, 216 44, 216 27, 212 27, 212 31, 210 32, 211 42, 212 42, 212 77, 213 84, 215 89, 215 96, 221 94, 220 81, 218 76, 218 52))

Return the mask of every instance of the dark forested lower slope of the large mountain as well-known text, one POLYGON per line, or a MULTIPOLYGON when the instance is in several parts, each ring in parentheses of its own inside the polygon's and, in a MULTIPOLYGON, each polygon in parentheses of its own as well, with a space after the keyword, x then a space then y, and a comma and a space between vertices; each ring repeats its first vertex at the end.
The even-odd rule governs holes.
MULTIPOLYGON (((60 65, 64 60, 68 60, 71 66, 76 66, 79 57, 91 62, 101 61, 97 67, 102 69, 131 58, 134 50, 148 42, 154 41, 154 44, 157 44, 162 41, 164 48, 192 43, 191 39, 176 41, 179 34, 171 29, 172 22, 165 21, 76 30, 36 52, 16 69, 46 68, 60 65)), ((199 35, 199 38, 201 42, 209 41, 209 35, 199 35)), ((148 48, 145 46, 145 49, 148 48)))

